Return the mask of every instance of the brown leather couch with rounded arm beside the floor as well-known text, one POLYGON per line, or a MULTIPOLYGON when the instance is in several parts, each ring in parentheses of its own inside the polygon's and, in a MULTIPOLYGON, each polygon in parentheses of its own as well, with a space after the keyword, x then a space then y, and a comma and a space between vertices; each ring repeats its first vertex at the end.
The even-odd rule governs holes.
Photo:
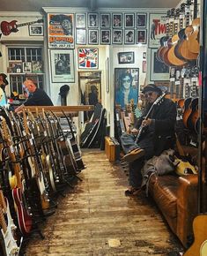
POLYGON ((197 175, 152 176, 149 192, 171 230, 188 247, 193 235, 192 222, 197 215, 197 175))

